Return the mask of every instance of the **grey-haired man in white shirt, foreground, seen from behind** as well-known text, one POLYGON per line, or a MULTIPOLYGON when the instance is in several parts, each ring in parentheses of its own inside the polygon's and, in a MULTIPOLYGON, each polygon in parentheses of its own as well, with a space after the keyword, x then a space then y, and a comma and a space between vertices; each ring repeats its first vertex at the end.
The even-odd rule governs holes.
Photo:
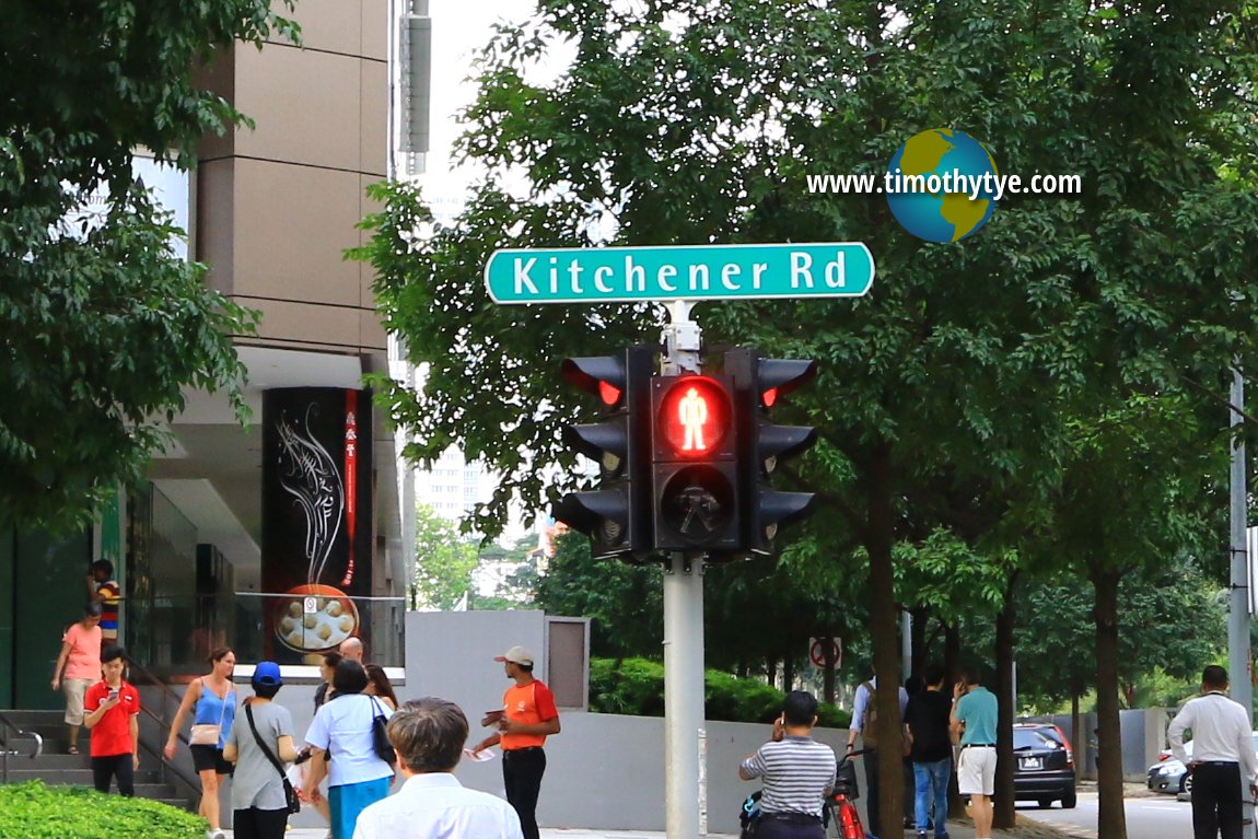
POLYGON ((353 839, 523 839, 516 809, 454 777, 468 718, 453 702, 408 702, 389 720, 404 784, 359 815, 353 839))

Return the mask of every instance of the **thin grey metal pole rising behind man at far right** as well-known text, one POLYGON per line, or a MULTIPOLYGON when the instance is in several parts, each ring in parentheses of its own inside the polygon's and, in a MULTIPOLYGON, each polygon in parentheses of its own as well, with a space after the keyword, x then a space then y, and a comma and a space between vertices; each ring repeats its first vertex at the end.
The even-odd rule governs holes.
MULTIPOLYGON (((1232 428, 1244 421, 1244 380, 1232 369, 1232 428)), ((1232 596, 1228 600, 1228 675, 1232 698, 1253 717, 1253 664, 1249 655, 1249 557, 1245 528, 1249 511, 1245 503, 1245 447, 1239 436, 1232 440, 1232 596)))

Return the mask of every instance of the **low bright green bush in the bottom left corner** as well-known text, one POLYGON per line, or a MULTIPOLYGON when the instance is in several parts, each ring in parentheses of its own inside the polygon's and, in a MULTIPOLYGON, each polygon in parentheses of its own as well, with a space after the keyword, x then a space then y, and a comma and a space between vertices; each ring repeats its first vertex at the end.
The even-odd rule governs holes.
POLYGON ((205 826, 205 819, 160 801, 43 781, 0 786, 0 836, 200 839, 205 826))

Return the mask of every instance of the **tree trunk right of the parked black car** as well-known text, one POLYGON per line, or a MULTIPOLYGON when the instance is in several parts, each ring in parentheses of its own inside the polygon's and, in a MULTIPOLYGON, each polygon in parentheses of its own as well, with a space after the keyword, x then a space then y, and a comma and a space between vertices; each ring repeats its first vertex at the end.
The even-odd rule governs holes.
POLYGON ((1118 571, 1093 569, 1097 594, 1097 785, 1098 839, 1127 839, 1122 809, 1122 728, 1118 721, 1118 571))

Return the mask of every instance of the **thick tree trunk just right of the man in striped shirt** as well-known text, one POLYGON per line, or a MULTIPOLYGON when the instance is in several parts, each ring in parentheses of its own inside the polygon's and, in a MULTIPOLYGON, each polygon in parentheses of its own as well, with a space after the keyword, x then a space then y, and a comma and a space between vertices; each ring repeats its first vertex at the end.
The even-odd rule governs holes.
POLYGON ((894 542, 894 516, 891 504, 891 449, 883 444, 868 469, 868 531, 866 550, 869 552, 869 634, 873 640, 873 668, 878 677, 878 814, 869 820, 878 825, 871 830, 879 836, 901 836, 905 833, 905 772, 899 758, 899 643, 896 609, 894 576, 891 548, 894 542))

